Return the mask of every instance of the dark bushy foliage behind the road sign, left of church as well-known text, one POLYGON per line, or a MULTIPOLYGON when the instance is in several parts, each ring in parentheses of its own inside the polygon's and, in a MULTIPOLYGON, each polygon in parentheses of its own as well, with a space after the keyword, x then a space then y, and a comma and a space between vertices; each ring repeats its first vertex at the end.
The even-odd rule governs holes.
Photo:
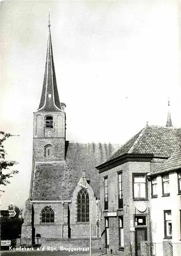
POLYGON ((11 204, 8 206, 8 210, 15 210, 16 215, 14 217, 1 217, 2 240, 13 240, 19 238, 21 234, 22 209, 11 204))

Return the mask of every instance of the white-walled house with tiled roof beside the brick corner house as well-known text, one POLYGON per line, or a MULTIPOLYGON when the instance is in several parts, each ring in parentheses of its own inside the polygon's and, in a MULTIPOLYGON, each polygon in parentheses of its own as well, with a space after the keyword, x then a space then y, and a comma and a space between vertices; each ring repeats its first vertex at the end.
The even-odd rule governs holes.
POLYGON ((181 255, 181 147, 156 172, 151 182, 151 225, 153 255, 163 256, 167 247, 181 255), (164 243, 163 243, 164 241, 164 243), (167 246, 164 246, 168 241, 167 246))

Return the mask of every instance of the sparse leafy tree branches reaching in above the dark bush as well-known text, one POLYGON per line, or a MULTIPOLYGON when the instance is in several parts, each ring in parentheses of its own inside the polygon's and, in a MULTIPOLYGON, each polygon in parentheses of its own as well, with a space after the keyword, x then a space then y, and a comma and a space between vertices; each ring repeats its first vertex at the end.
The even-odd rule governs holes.
MULTIPOLYGON (((18 170, 10 170, 10 172, 7 172, 10 169, 10 167, 12 167, 14 164, 17 164, 17 162, 15 161, 8 161, 5 159, 5 156, 7 155, 7 153, 5 151, 3 143, 5 142, 6 139, 12 136, 14 135, 0 131, 0 158, 1 158, 0 185, 4 185, 4 186, 10 183, 9 178, 12 178, 14 174, 18 173, 18 170)), ((4 190, 0 190, 0 191, 4 192, 4 190)))

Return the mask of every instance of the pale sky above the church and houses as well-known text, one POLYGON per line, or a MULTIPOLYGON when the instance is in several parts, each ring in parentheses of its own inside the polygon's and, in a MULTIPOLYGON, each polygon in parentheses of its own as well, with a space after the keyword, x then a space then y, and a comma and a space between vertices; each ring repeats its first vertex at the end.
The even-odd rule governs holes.
POLYGON ((168 97, 181 126, 179 1, 1 2, 1 130, 19 135, 5 143, 19 173, 2 209, 29 198, 49 9, 67 140, 123 144, 146 122, 165 126, 168 97))

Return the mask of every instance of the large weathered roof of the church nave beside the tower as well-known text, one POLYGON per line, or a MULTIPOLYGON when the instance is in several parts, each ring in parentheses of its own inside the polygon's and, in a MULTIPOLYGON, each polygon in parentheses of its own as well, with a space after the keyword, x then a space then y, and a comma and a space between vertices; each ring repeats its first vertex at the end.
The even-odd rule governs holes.
POLYGON ((86 178, 99 198, 99 179, 95 166, 106 161, 120 144, 66 143, 65 161, 35 163, 32 200, 70 200, 82 170, 86 170, 86 178))

